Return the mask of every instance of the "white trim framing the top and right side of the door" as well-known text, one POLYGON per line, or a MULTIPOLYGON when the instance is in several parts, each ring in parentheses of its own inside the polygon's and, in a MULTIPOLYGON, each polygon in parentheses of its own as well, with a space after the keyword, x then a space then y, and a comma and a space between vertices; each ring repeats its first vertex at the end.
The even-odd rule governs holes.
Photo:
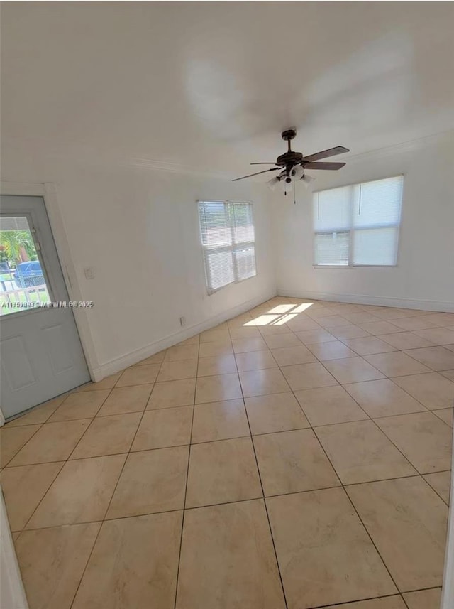
MULTIPOLYGON (((1 195, 32 196, 42 197, 50 223, 50 230, 57 248, 57 255, 60 259, 63 277, 67 292, 72 301, 83 301, 82 290, 77 279, 76 268, 71 254, 70 243, 65 230, 65 222, 60 212, 60 205, 57 198, 57 188, 53 183, 21 183, 21 182, 0 182, 1 195)), ((94 371, 99 368, 99 360, 94 347, 92 330, 89 326, 87 309, 74 308, 74 319, 79 332, 82 350, 90 373, 94 380, 94 371)))

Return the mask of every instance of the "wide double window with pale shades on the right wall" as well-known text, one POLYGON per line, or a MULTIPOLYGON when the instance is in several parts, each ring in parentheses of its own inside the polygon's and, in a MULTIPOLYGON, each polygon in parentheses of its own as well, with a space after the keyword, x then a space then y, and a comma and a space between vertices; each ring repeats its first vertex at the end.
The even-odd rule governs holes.
POLYGON ((316 266, 394 266, 403 176, 314 193, 316 266))

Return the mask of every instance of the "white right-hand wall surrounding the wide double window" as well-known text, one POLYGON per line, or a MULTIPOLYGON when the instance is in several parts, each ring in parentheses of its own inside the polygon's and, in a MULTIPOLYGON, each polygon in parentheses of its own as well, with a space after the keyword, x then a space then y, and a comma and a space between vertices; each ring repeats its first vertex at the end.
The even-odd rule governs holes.
POLYGON ((277 293, 454 310, 454 132, 345 160, 341 171, 314 172, 313 190, 404 173, 397 266, 314 268, 312 194, 301 185, 297 205, 280 193, 273 205, 277 293))

